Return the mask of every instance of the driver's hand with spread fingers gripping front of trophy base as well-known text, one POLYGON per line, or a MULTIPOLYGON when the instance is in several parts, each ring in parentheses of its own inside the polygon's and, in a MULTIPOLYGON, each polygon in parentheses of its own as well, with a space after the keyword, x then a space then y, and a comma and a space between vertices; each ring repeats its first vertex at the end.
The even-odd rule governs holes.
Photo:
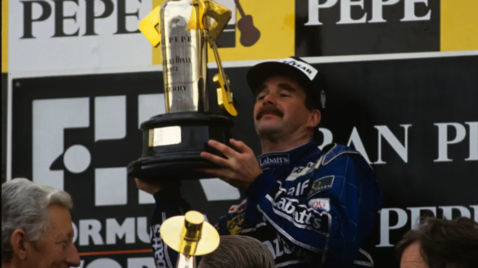
POLYGON ((222 152, 228 159, 202 152, 202 158, 222 168, 205 168, 198 171, 221 178, 232 186, 246 189, 262 173, 262 170, 251 148, 239 140, 230 139, 230 142, 239 152, 219 141, 209 140, 209 146, 222 152))

